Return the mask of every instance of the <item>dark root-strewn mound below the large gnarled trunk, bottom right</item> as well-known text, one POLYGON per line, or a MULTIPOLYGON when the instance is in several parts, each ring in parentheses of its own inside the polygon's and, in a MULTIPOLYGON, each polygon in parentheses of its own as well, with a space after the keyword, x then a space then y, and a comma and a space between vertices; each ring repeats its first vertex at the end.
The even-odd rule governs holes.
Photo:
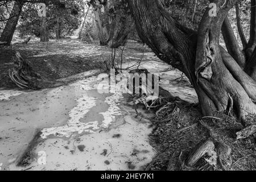
MULTIPOLYGON (((250 160, 256 168, 256 126, 243 127, 236 117, 218 112, 200 117, 198 109, 173 101, 156 110, 152 139, 158 143, 156 148, 161 144, 149 169, 236 170, 241 159, 250 160), (168 162, 158 168, 164 160, 168 162)), ((256 116, 247 120, 255 123, 256 116)))

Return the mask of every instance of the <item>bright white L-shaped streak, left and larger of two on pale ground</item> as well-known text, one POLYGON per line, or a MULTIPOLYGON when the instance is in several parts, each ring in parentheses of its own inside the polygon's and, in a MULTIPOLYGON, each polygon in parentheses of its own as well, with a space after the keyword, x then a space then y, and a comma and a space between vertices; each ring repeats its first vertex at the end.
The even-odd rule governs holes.
POLYGON ((92 107, 96 106, 96 98, 83 96, 77 100, 77 105, 69 112, 69 121, 67 125, 60 127, 52 127, 43 129, 41 137, 46 139, 49 135, 55 135, 56 137, 70 137, 73 133, 79 134, 83 132, 94 133, 93 130, 97 130, 98 121, 82 123, 81 118, 84 118, 85 114, 89 112, 92 107))

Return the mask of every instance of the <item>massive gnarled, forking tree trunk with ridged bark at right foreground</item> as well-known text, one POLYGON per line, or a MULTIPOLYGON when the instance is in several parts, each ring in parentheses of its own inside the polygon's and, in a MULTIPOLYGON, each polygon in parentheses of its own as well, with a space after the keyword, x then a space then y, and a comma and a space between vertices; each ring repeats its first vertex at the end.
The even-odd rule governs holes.
MULTIPOLYGON (((236 1, 212 1, 217 5, 217 16, 209 16, 207 9, 199 32, 181 26, 160 0, 127 2, 140 38, 160 59, 185 73, 196 90, 204 115, 234 109, 243 121, 246 115, 256 114, 256 83, 250 77, 253 74, 243 71, 242 61, 237 60, 243 57, 240 53, 232 57, 232 47, 228 53, 219 46, 222 23, 236 1)), ((250 61, 253 65, 255 62, 255 58, 250 61)))

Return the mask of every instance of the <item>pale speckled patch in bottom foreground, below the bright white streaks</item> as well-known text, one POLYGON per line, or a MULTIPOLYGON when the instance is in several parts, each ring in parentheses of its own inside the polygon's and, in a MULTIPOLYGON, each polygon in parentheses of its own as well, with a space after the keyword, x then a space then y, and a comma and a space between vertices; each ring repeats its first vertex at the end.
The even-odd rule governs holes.
MULTIPOLYGON (((81 135, 79 139, 49 138, 45 140, 36 147, 34 152, 35 154, 39 154, 40 151, 46 152, 46 165, 40 165, 37 160, 34 160, 29 170, 131 170, 129 163, 134 165, 134 170, 143 170, 143 166, 150 163, 155 155, 155 150, 148 141, 152 128, 149 127, 150 122, 138 122, 131 115, 134 114, 125 115, 122 118, 125 124, 115 129, 81 135), (121 136, 113 138, 115 134, 121 134, 121 136), (84 151, 78 149, 79 145, 85 146, 84 151), (106 150, 105 155, 102 154, 104 150, 106 150), (106 164, 106 161, 109 164, 106 164)), ((16 167, 14 164, 10 166, 10 170, 21 169, 25 168, 16 167)))

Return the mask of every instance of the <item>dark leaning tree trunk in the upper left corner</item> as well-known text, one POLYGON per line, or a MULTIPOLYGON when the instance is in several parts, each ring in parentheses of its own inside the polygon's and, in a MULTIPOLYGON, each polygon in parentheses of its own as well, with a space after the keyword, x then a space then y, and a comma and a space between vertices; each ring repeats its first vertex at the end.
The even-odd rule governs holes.
POLYGON ((23 1, 15 1, 13 10, 11 10, 10 19, 7 20, 5 29, 2 32, 0 42, 6 42, 7 45, 11 44, 16 25, 19 20, 20 13, 22 11, 23 1))

